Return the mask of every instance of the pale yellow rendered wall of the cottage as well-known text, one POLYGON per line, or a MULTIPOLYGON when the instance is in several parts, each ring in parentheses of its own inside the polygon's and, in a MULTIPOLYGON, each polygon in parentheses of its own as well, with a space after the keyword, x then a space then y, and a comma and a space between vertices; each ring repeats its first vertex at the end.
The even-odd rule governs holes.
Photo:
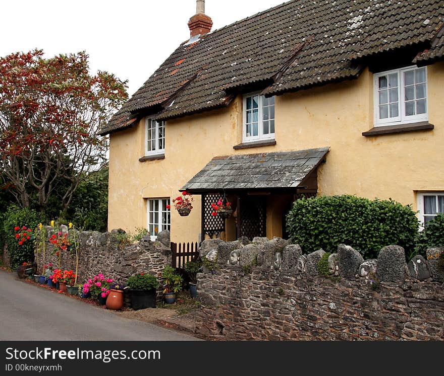
MULTIPOLYGON (((176 197, 214 156, 322 146, 330 152, 319 169, 318 194, 392 197, 416 210, 416 191, 444 190, 444 63, 427 69, 432 131, 362 136, 373 127, 372 74, 366 69, 357 80, 276 97, 274 146, 233 149, 242 141, 242 96, 228 108, 167 121, 164 160, 138 162, 144 120, 110 135, 108 229, 146 227, 146 198, 176 197)), ((197 241, 201 207, 200 196, 194 197, 188 217, 172 209, 172 241, 197 241)), ((278 223, 267 218, 267 236, 279 235, 278 223)))

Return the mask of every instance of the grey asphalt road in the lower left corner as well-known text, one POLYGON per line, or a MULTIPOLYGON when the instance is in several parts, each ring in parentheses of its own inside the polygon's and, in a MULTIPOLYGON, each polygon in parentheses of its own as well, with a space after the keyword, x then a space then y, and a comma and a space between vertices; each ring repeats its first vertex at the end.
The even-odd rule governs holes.
POLYGON ((130 320, 0 269, 0 340, 197 340, 130 320))

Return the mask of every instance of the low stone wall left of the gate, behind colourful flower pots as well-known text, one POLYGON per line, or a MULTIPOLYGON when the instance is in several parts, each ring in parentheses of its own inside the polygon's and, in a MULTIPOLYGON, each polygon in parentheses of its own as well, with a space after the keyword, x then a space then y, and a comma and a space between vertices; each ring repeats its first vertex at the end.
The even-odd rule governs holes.
MULTIPOLYGON (((54 234, 52 228, 47 227, 47 237, 54 234)), ((68 232, 65 226, 61 227, 63 233, 68 232)), ((69 230, 72 231, 72 230, 69 230)), ((129 276, 142 271, 156 276, 161 275, 165 265, 171 264, 170 232, 159 234, 156 242, 151 242, 150 237, 143 238, 139 243, 120 246, 119 238, 115 235, 122 233, 121 230, 113 230, 110 233, 98 233, 85 231, 78 233, 79 246, 79 268, 78 283, 83 283, 98 273, 113 278, 119 282, 126 282, 129 276)), ((53 245, 46 242, 45 263, 51 262, 54 268, 58 268, 58 257, 53 254, 53 245)), ((39 262, 39 272, 43 265, 43 254, 40 252, 35 256, 39 262)), ((61 268, 76 268, 76 257, 69 252, 62 252, 61 268)))

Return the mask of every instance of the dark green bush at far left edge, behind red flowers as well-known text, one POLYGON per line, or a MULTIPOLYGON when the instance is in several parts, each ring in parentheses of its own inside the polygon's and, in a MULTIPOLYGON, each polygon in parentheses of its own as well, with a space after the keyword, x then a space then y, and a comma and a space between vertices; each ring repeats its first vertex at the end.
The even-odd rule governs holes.
POLYGON ((9 206, 6 213, 3 214, 3 236, 5 237, 5 243, 8 245, 10 263, 13 269, 25 261, 34 260, 35 246, 33 241, 19 245, 14 228, 16 226, 26 226, 30 229, 36 229, 37 224, 42 220, 42 214, 29 208, 21 209, 16 205, 9 206))

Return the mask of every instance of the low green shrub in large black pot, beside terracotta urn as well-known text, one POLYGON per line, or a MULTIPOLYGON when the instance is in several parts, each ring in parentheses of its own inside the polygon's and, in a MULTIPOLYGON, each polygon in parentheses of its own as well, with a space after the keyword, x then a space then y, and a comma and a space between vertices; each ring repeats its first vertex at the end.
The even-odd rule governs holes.
POLYGON ((149 273, 134 274, 128 278, 127 287, 131 294, 133 310, 156 307, 156 288, 159 282, 149 273))

